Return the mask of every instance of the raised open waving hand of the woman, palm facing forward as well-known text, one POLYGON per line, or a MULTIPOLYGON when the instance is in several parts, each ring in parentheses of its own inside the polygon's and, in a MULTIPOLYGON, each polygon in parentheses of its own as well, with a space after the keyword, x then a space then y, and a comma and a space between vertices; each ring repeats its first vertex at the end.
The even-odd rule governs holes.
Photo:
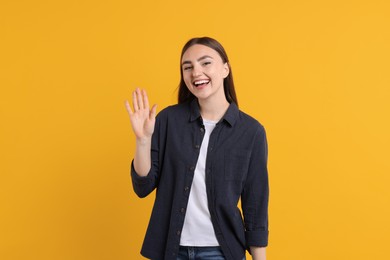
POLYGON ((157 105, 153 105, 152 109, 149 108, 149 100, 145 90, 137 88, 132 95, 134 110, 131 109, 129 101, 125 102, 131 126, 137 141, 147 141, 152 137, 154 131, 157 105))

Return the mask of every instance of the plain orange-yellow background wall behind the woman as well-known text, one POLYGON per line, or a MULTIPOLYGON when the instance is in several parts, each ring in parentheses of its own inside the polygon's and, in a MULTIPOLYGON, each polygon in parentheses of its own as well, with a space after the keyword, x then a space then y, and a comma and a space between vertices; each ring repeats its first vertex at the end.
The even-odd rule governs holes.
POLYGON ((123 101, 176 102, 194 36, 264 124, 268 259, 389 259, 390 4, 0 2, 0 259, 142 259, 123 101))

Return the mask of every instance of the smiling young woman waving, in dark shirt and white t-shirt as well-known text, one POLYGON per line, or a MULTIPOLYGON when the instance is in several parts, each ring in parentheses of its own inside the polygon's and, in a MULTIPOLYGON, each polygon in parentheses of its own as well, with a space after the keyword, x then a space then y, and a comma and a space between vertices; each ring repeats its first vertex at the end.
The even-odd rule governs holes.
POLYGON ((212 38, 183 47, 178 104, 156 117, 145 90, 126 101, 136 136, 135 193, 156 198, 141 254, 150 259, 265 259, 267 140, 238 109, 224 48, 212 38), (242 214, 237 207, 241 199, 242 214))

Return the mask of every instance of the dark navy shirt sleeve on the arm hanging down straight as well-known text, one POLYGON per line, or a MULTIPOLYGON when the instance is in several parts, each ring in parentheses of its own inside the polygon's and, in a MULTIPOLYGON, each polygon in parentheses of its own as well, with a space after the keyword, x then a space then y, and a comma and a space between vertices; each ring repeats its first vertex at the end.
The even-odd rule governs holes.
POLYGON ((268 146, 264 127, 257 130, 241 206, 245 223, 246 247, 268 245, 268 146))

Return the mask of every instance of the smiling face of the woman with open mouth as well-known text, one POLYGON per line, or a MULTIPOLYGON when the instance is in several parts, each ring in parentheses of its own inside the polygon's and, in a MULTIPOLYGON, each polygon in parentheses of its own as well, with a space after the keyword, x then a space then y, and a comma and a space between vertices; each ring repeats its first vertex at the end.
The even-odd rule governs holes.
POLYGON ((181 65, 183 80, 198 100, 226 100, 223 80, 229 75, 229 66, 217 51, 195 44, 184 52, 181 65))

